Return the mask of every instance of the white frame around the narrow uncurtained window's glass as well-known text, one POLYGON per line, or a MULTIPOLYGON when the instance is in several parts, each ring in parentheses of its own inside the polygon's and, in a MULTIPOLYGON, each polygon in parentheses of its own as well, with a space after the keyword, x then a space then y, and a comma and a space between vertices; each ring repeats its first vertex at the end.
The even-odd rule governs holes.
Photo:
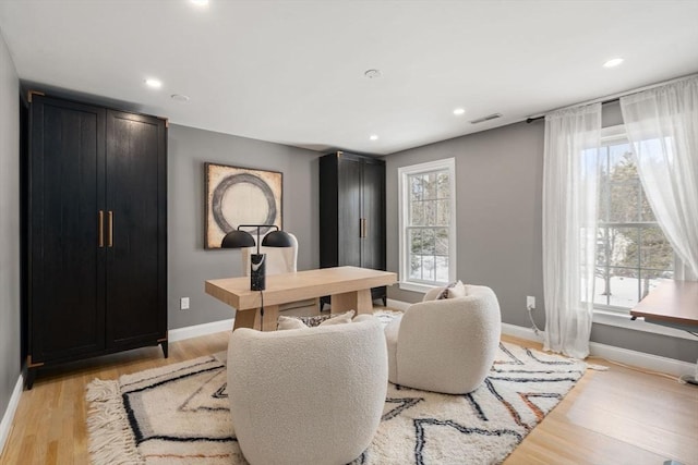
POLYGON ((410 206, 410 192, 408 178, 416 174, 426 174, 434 171, 447 171, 449 179, 449 210, 450 219, 448 224, 448 282, 456 280, 458 276, 456 272, 456 159, 446 158, 442 160, 428 161, 424 163, 410 164, 407 167, 398 168, 398 256, 399 256, 399 282, 398 285, 401 290, 413 292, 428 292, 429 290, 446 285, 448 282, 435 282, 434 284, 428 284, 421 281, 410 280, 409 272, 409 253, 407 238, 407 230, 410 227, 409 221, 409 206, 410 206))

